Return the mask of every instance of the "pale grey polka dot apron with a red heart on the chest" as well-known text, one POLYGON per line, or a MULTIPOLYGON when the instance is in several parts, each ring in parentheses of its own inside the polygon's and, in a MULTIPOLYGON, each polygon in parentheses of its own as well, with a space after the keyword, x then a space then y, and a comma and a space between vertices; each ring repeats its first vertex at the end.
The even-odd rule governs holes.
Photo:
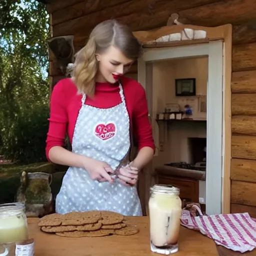
MULTIPOLYGON (((122 85, 121 103, 109 108, 86 105, 83 94, 72 139, 72 151, 105 161, 113 170, 130 150, 130 125, 122 85)), ((84 168, 70 166, 56 196, 56 212, 111 210, 126 216, 142 215, 136 186, 115 180, 92 180, 84 168)))

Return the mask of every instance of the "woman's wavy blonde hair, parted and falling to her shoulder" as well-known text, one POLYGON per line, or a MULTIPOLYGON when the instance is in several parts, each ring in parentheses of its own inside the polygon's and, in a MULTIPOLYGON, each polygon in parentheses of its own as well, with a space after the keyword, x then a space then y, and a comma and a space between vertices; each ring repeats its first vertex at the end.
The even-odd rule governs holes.
POLYGON ((137 59, 142 46, 130 29, 114 19, 105 20, 91 31, 88 41, 75 55, 72 76, 79 92, 94 95, 97 72, 96 53, 102 53, 109 46, 121 50, 125 57, 137 59))

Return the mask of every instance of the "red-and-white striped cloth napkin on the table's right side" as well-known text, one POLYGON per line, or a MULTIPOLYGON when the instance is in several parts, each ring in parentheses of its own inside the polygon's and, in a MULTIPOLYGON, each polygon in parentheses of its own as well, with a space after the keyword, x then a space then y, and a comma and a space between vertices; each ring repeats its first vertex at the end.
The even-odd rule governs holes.
POLYGON ((200 231, 233 251, 251 251, 256 247, 256 219, 245 213, 203 215, 199 204, 188 203, 182 209, 180 224, 200 231))

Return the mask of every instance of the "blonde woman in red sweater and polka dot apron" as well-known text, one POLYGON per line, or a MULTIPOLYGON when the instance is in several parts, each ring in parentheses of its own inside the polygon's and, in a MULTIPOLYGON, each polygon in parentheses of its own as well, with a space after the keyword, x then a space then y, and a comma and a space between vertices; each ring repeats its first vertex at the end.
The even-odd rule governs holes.
POLYGON ((153 157, 143 87, 123 76, 141 55, 127 26, 99 23, 77 53, 71 78, 54 86, 50 102, 47 158, 70 166, 56 196, 56 212, 111 210, 141 215, 138 171, 153 157), (72 151, 62 147, 67 132, 72 151), (138 145, 132 162, 130 134, 138 145))

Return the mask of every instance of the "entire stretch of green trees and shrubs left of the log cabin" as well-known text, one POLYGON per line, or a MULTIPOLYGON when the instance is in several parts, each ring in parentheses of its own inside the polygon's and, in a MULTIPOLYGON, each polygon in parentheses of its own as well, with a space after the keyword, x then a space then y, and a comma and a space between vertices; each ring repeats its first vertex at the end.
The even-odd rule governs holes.
POLYGON ((49 16, 36 0, 0 0, 0 155, 45 161, 49 16))

